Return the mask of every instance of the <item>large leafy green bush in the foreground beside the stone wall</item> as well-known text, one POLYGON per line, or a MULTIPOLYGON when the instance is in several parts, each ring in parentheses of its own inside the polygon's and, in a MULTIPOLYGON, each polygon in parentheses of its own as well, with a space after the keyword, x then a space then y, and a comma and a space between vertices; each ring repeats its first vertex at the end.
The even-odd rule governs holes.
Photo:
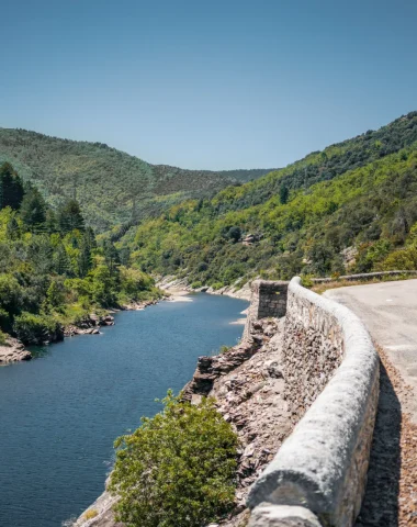
POLYGON ((233 506, 237 436, 212 400, 180 403, 168 392, 165 408, 119 448, 110 491, 120 496, 126 527, 201 527, 233 506))

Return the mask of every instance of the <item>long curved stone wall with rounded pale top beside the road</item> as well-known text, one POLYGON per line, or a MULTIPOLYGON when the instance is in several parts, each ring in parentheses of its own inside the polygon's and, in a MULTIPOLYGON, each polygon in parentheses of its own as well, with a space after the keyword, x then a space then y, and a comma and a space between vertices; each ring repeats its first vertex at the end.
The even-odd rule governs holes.
POLYGON ((303 417, 251 487, 249 525, 351 527, 367 483, 379 357, 347 307, 300 278, 288 296, 282 367, 294 416, 303 417))

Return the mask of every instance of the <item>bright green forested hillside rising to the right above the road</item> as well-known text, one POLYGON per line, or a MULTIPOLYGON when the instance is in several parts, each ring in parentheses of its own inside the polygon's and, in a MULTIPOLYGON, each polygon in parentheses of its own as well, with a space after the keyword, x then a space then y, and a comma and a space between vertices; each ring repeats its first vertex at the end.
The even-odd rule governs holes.
POLYGON ((211 200, 172 206, 119 246, 145 271, 221 288, 258 274, 417 269, 416 222, 413 112, 211 200))

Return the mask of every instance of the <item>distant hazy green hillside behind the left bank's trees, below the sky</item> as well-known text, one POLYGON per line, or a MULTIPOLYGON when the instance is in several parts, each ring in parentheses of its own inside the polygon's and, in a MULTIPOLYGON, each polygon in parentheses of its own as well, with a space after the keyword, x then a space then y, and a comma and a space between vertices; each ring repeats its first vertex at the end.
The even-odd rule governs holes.
POLYGON ((25 130, 0 128, 0 164, 9 161, 58 206, 69 198, 81 205, 87 225, 103 232, 160 214, 190 198, 207 198, 270 171, 183 170, 150 165, 101 143, 49 137, 25 130))

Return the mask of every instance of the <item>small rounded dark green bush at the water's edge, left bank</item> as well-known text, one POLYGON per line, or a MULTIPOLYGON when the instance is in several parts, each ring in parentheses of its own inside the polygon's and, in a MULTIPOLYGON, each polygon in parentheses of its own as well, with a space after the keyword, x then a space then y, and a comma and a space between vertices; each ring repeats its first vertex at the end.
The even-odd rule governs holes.
POLYGON ((27 312, 14 318, 13 329, 23 344, 41 345, 64 337, 60 325, 52 316, 27 312))

